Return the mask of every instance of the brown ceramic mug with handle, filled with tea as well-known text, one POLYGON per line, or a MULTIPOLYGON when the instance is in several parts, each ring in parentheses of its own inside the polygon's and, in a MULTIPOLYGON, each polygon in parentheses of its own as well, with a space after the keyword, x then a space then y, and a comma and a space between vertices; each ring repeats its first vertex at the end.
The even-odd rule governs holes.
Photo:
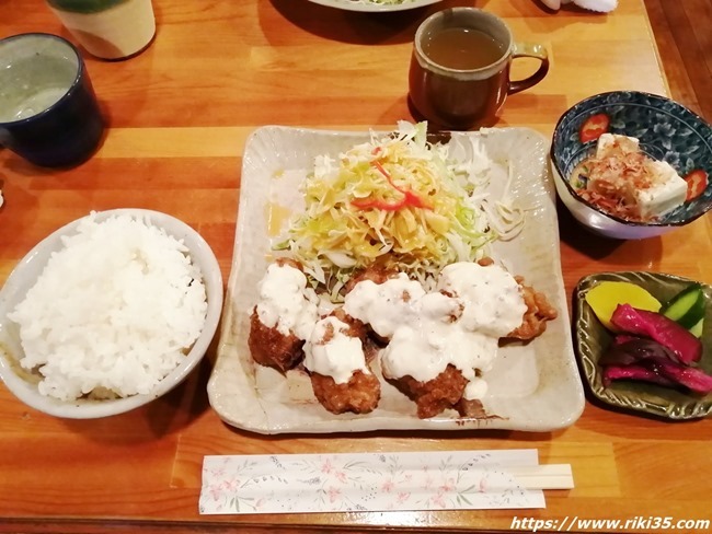
POLYGON ((476 8, 451 8, 417 28, 409 74, 409 97, 418 119, 467 130, 491 126, 507 95, 539 83, 549 71, 541 45, 516 43, 506 23, 476 8), (512 61, 537 58, 538 70, 510 80, 512 61))

